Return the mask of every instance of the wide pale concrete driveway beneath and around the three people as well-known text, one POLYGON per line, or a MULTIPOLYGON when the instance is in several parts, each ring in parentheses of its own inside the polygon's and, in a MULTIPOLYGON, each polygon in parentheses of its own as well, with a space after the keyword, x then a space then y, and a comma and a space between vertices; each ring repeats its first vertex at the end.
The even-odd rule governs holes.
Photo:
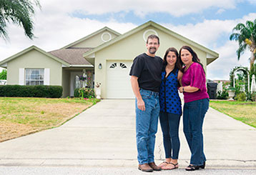
MULTIPOLYGON (((209 109, 204 134, 207 168, 255 169, 256 129, 209 109)), ((179 136, 179 167, 184 168, 190 153, 182 122, 179 136)), ((160 127, 155 158, 157 164, 164 159, 160 127)), ((137 169, 134 100, 102 100, 59 128, 2 142, 0 166, 137 169)))

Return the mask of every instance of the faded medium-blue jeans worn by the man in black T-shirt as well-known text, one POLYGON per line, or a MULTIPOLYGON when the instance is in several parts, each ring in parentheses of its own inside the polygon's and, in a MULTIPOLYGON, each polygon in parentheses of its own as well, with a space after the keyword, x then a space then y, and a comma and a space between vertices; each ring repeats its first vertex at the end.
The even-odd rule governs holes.
POLYGON ((145 111, 136 106, 136 140, 137 140, 137 159, 139 164, 154 162, 154 142, 157 133, 159 116, 159 94, 158 92, 139 90, 145 103, 145 111))

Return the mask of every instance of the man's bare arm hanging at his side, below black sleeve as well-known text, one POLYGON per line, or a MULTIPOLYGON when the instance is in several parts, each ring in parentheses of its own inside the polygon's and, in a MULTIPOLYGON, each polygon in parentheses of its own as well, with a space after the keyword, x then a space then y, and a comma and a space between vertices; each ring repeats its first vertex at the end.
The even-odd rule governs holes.
POLYGON ((131 76, 131 84, 132 84, 132 91, 134 92, 134 95, 136 96, 136 99, 137 99, 138 109, 145 111, 145 103, 142 99, 141 94, 139 93, 139 83, 138 83, 137 76, 131 76))

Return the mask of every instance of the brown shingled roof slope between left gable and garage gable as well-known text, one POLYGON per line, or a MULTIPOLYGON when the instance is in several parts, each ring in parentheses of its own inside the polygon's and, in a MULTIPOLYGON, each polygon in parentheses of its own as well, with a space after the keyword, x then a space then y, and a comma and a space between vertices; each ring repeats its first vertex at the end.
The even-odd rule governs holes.
POLYGON ((66 61, 71 65, 90 65, 86 59, 84 59, 83 54, 87 51, 92 50, 93 48, 68 48, 68 49, 59 49, 55 51, 49 51, 49 54, 52 54, 59 59, 66 61))

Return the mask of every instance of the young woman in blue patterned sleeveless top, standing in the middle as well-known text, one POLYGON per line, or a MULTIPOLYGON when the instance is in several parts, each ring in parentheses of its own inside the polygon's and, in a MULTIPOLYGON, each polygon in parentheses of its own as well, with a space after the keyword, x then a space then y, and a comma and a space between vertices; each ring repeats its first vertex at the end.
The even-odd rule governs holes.
POLYGON ((182 104, 179 99, 178 86, 182 79, 182 64, 178 59, 177 49, 171 47, 164 54, 162 83, 159 91, 159 120, 164 139, 166 161, 159 166, 162 169, 177 169, 179 156, 179 119, 182 104))

